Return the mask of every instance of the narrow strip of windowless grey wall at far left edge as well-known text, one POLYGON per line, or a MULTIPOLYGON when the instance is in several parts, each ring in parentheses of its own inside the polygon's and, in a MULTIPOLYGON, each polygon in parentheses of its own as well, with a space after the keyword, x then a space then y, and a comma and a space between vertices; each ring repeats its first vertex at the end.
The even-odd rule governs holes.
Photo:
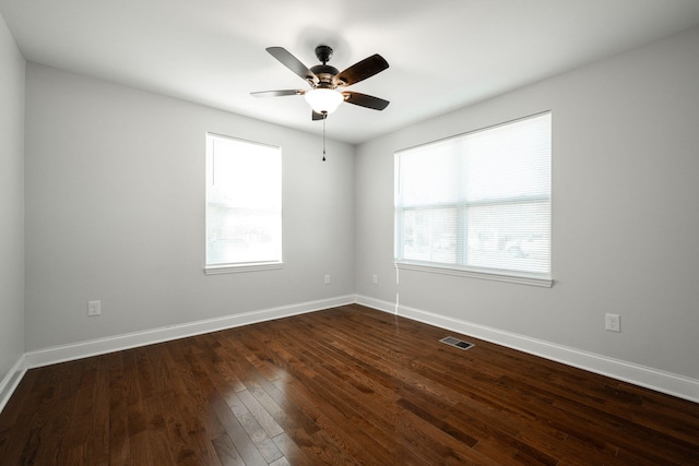
MULTIPOLYGON (((0 382, 24 354, 24 58, 0 16, 0 382)), ((0 384, 2 389, 3 384, 0 384)), ((1 392, 1 390, 0 390, 1 392)), ((0 402, 2 397, 0 396, 0 402)))

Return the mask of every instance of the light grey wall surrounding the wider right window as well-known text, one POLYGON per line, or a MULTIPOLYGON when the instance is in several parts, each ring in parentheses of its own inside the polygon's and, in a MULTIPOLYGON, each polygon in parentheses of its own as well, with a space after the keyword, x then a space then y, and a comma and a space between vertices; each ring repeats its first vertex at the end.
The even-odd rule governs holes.
POLYGON ((699 379, 698 50, 694 29, 359 146, 357 294, 699 379), (543 110, 554 287, 407 271, 396 286, 394 151, 543 110), (605 312, 621 333, 605 332, 605 312))

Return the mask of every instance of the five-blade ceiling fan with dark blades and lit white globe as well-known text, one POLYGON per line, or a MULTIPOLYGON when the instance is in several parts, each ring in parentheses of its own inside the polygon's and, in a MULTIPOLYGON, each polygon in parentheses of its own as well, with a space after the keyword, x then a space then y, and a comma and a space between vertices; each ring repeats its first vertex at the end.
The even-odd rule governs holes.
POLYGON ((340 72, 336 68, 328 64, 332 58, 332 48, 325 45, 316 47, 316 57, 322 64, 317 64, 311 69, 308 69, 308 67, 283 47, 268 47, 266 51, 283 65, 308 82, 311 88, 308 91, 284 89, 251 93, 251 95, 256 97, 303 95, 312 108, 313 120, 324 120, 328 113, 335 111, 343 101, 374 110, 383 110, 389 105, 389 101, 382 98, 352 91, 340 91, 343 87, 356 84, 389 68, 389 63, 378 53, 365 58, 340 72))

